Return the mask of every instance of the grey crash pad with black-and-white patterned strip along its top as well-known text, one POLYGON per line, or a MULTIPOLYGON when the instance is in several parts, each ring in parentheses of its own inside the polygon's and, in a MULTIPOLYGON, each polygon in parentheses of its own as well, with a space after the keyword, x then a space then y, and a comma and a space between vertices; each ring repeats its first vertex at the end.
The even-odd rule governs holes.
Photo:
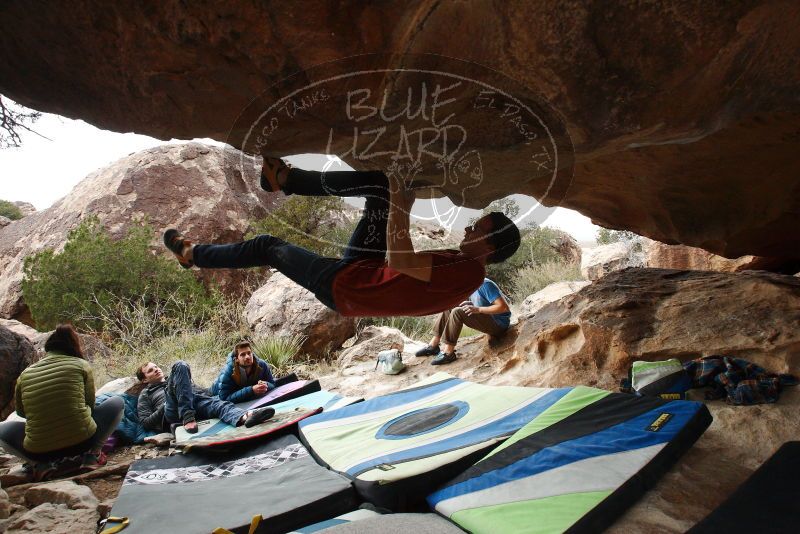
MULTIPOLYGON (((134 462, 111 515, 127 517, 125 534, 198 533, 222 527, 287 532, 358 506, 350 482, 317 463, 295 436, 246 453, 181 454, 134 462)), ((108 528, 114 523, 109 522, 108 528)))

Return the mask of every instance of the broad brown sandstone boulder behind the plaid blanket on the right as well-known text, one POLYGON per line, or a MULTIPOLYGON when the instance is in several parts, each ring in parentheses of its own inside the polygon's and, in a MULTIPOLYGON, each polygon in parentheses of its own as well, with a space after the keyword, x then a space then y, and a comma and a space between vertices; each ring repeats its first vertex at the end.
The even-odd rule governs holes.
POLYGON ((626 269, 520 322, 525 384, 613 388, 636 359, 726 354, 775 372, 800 366, 800 279, 747 271, 626 269))

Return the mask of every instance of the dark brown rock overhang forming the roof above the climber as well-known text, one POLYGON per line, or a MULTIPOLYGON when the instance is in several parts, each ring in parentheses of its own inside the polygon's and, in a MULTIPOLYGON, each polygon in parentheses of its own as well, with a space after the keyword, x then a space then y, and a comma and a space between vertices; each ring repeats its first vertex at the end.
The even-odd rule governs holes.
MULTIPOLYGON (((575 152, 574 174, 565 172, 557 190, 548 190, 549 182, 529 165, 525 138, 482 129, 485 121, 469 111, 472 86, 453 87, 446 96, 455 100, 439 109, 440 117, 458 112, 457 125, 469 133, 462 154, 479 150, 483 168, 492 169, 463 200, 463 180, 461 186, 458 180, 444 184, 458 204, 482 207, 524 193, 667 243, 726 257, 781 256, 796 254, 800 245, 792 230, 800 227, 792 193, 800 184, 794 156, 800 73, 793 68, 799 19, 800 6, 788 1, 717 0, 676 10, 589 0, 576 0, 569 9, 554 1, 467 6, 394 0, 342 11, 333 0, 303 10, 293 4, 169 0, 144 7, 81 0, 35 15, 25 2, 13 2, 0 13, 0 92, 102 128, 161 139, 212 137, 240 148, 249 127, 279 97, 359 65, 349 59, 294 73, 375 51, 390 55, 368 66, 384 69, 441 72, 452 70, 453 60, 445 56, 457 57, 471 62, 457 69, 467 79, 494 86, 488 69, 478 66, 491 65, 518 80, 515 96, 530 107, 539 104, 537 114, 559 137, 553 145, 562 149, 559 155, 569 155, 570 141, 575 152), (254 20, 267 22, 254 26, 254 20)), ((367 116, 370 108, 362 107, 358 122, 352 114, 347 119, 339 104, 352 85, 335 87, 342 93, 310 92, 291 105, 286 101, 275 128, 259 130, 260 149, 323 152, 334 132, 331 151, 351 164, 388 166, 399 150, 397 135, 375 139, 372 154, 392 152, 368 162, 362 149, 371 138, 352 150, 354 127, 373 131, 405 109, 406 79, 382 72, 355 89, 371 91, 363 105, 373 108, 386 89, 386 113, 367 116), (336 103, 337 113, 325 101, 336 103)), ((414 87, 416 97, 421 86, 414 87)), ((435 83, 429 88, 428 111, 435 83)), ((486 109, 507 110, 507 103, 484 100, 486 109)), ((412 111, 418 103, 415 98, 412 111)), ((500 116, 492 119, 498 127, 500 116)), ((419 115, 404 121, 406 130, 430 126, 426 117, 428 122, 419 115)), ((390 124, 391 133, 399 122, 390 124)), ((559 165, 563 159, 571 158, 559 165)), ((438 176, 433 167, 421 174, 428 183, 438 176)))

